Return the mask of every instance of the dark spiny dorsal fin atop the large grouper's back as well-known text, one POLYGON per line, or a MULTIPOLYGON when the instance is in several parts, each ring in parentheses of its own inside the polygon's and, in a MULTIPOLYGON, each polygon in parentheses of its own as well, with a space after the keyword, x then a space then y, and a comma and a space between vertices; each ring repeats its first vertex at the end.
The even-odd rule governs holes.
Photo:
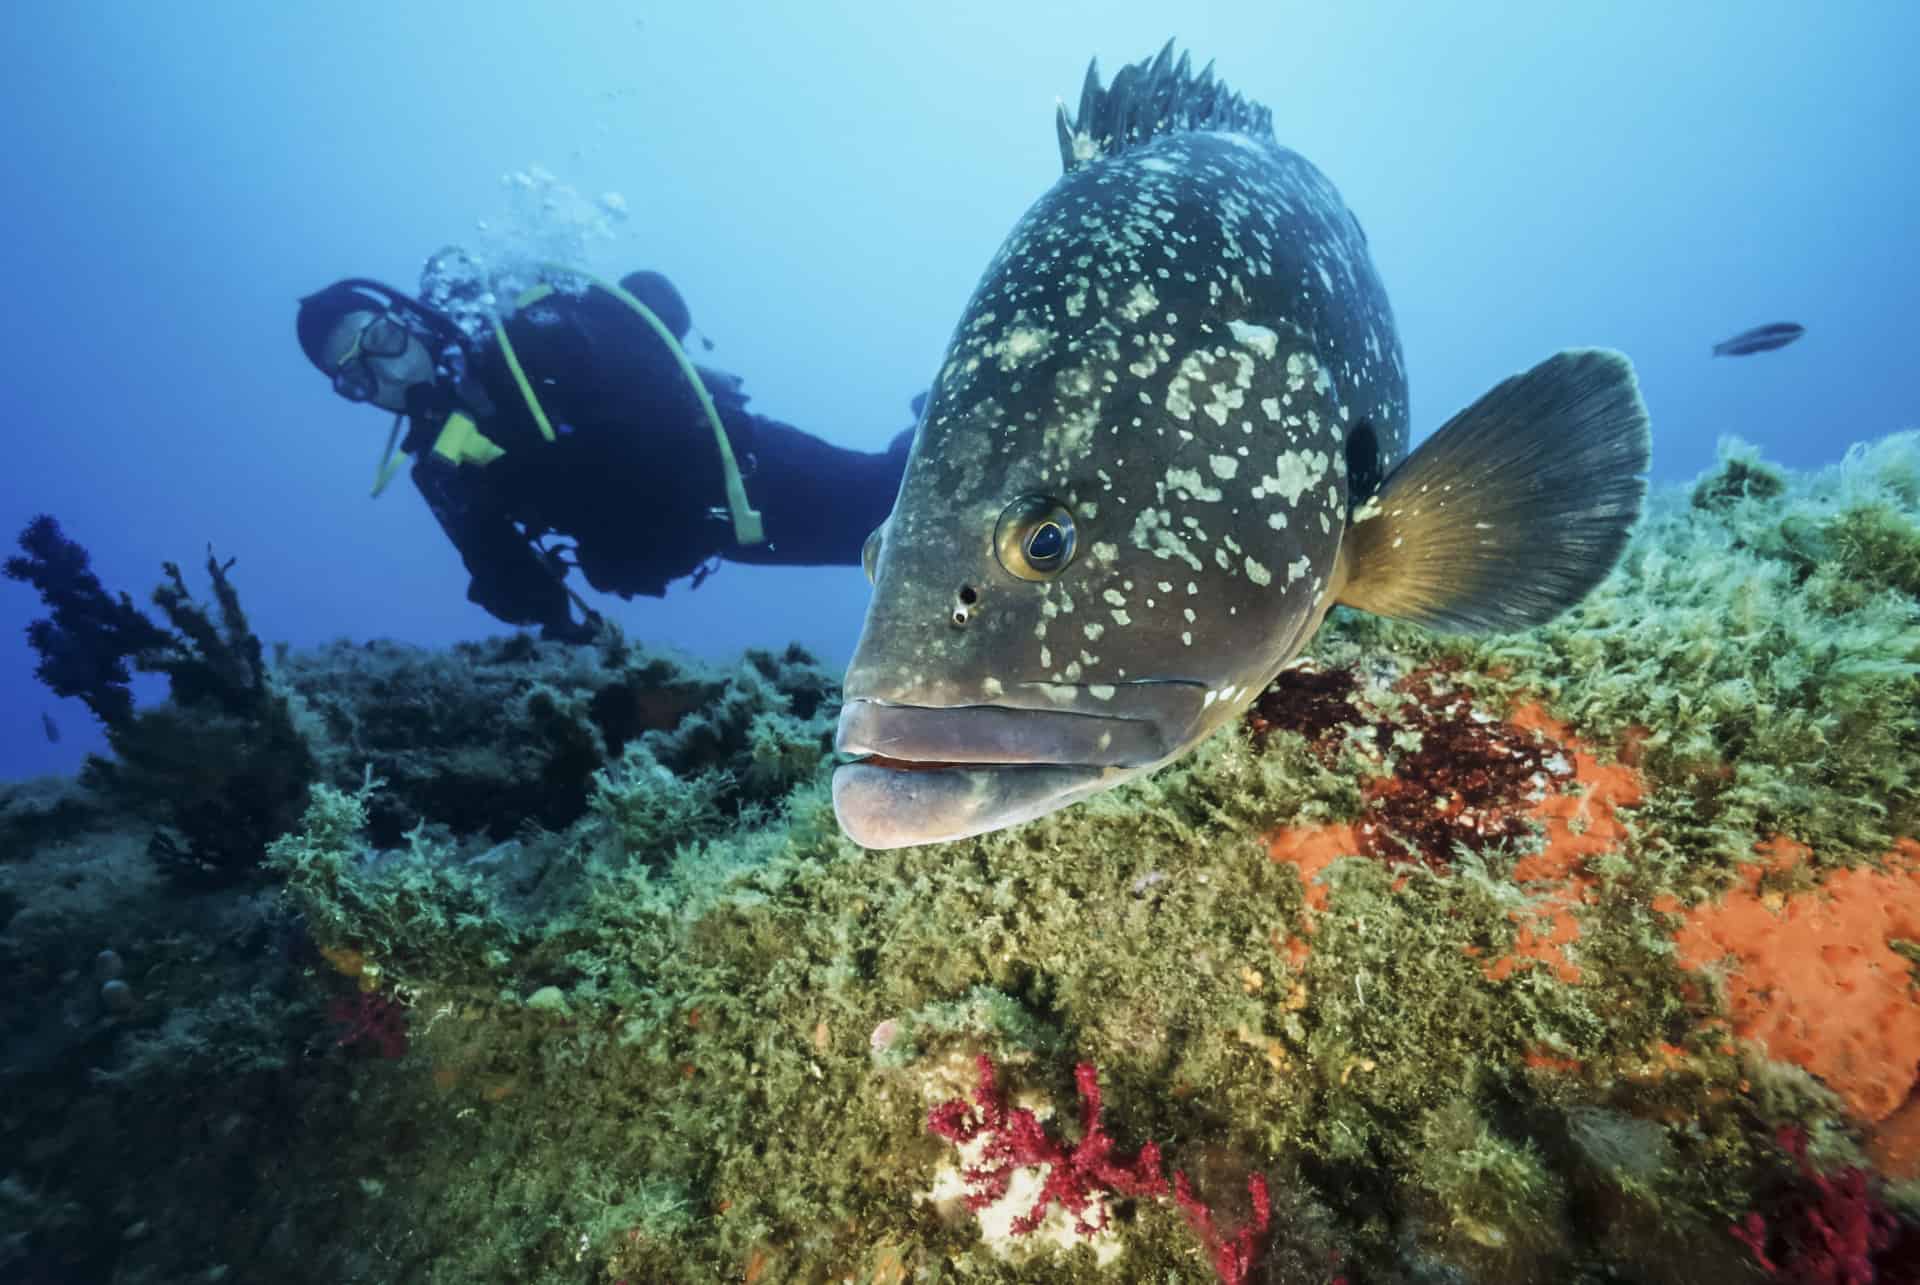
POLYGON ((1089 61, 1079 111, 1068 115, 1062 102, 1054 129, 1060 134, 1060 169, 1073 173, 1104 156, 1188 129, 1231 129, 1271 140, 1273 113, 1217 83, 1213 63, 1200 75, 1192 73, 1187 54, 1175 63, 1173 40, 1167 40, 1156 58, 1114 73, 1108 88, 1100 86, 1100 63, 1089 61))

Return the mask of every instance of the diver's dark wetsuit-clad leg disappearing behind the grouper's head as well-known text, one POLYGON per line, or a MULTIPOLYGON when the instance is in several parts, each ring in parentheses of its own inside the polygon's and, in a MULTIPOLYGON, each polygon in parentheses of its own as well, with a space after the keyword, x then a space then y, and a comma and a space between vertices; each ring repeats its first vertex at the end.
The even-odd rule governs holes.
POLYGON ((852 451, 778 419, 755 417, 755 469, 747 499, 766 544, 728 546, 735 563, 858 567, 866 538, 893 511, 912 432, 885 451, 852 451))

